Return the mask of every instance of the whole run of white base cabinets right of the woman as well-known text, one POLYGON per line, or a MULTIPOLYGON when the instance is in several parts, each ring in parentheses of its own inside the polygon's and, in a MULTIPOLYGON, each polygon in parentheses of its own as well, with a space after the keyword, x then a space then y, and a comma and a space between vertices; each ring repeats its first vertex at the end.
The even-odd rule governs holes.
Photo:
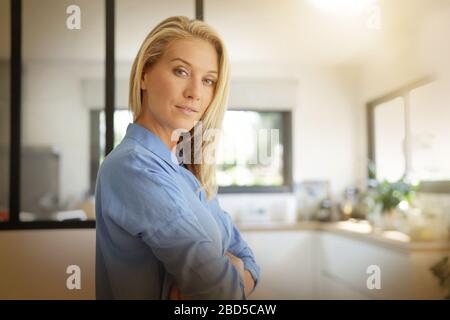
POLYGON ((449 244, 405 244, 373 235, 315 228, 243 230, 261 278, 250 299, 442 299, 430 267, 449 254, 449 244), (369 289, 369 266, 380 288, 369 289))

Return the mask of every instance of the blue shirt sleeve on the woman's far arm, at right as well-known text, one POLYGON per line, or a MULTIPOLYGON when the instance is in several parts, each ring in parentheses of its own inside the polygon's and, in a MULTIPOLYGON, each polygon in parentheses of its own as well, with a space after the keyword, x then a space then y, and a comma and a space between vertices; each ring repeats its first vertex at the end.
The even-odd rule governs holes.
POLYGON ((214 197, 211 200, 211 206, 214 211, 220 214, 220 217, 225 224, 225 228, 228 231, 229 245, 226 250, 231 252, 238 258, 242 259, 242 261, 244 262, 244 268, 250 271, 253 280, 255 281, 255 286, 253 288, 253 291, 255 291, 259 283, 260 267, 256 263, 255 255, 252 249, 249 247, 247 242, 242 238, 242 235, 240 231, 236 228, 236 225, 233 223, 230 214, 220 207, 217 197, 214 197))

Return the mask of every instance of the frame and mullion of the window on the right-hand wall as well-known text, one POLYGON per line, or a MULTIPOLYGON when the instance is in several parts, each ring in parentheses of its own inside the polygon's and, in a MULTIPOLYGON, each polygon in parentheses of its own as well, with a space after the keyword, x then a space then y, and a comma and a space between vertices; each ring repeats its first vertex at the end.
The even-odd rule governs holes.
MULTIPOLYGON (((405 85, 401 88, 398 88, 392 92, 389 92, 386 95, 383 95, 379 98, 376 98, 366 104, 367 111, 367 137, 368 137, 368 159, 371 161, 376 168, 376 155, 375 155, 375 109, 377 106, 392 101, 396 98, 403 98, 405 102, 405 173, 410 170, 410 158, 411 158, 411 149, 410 149, 410 123, 409 123, 409 112, 410 112, 410 92, 414 89, 420 88, 427 84, 430 84, 436 81, 437 78, 435 76, 427 76, 421 78, 417 81, 414 81, 408 85, 405 85)), ((369 177, 368 171, 368 177, 369 177)), ((450 193, 450 180, 440 180, 440 181, 429 181, 423 180, 420 181, 419 192, 422 193, 450 193)))

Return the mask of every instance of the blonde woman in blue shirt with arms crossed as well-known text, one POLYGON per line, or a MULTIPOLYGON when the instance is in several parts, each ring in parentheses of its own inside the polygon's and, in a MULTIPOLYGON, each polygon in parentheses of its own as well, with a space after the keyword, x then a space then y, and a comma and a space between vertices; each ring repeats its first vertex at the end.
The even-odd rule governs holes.
POLYGON ((225 46, 204 22, 171 17, 145 38, 130 76, 134 121, 97 178, 97 299, 245 299, 254 290, 253 252, 219 206, 214 164, 197 157, 213 159, 205 137, 220 128, 228 91, 225 46), (180 164, 182 142, 200 147, 183 149, 180 164))

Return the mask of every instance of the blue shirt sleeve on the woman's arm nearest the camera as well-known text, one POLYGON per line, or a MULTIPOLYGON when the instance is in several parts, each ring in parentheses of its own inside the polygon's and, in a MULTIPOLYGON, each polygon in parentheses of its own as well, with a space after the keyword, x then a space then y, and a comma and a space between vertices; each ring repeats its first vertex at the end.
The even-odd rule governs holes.
POLYGON ((131 162, 104 178, 102 190, 111 194, 102 203, 104 212, 151 248, 182 294, 244 298, 238 271, 208 237, 169 174, 131 162))

